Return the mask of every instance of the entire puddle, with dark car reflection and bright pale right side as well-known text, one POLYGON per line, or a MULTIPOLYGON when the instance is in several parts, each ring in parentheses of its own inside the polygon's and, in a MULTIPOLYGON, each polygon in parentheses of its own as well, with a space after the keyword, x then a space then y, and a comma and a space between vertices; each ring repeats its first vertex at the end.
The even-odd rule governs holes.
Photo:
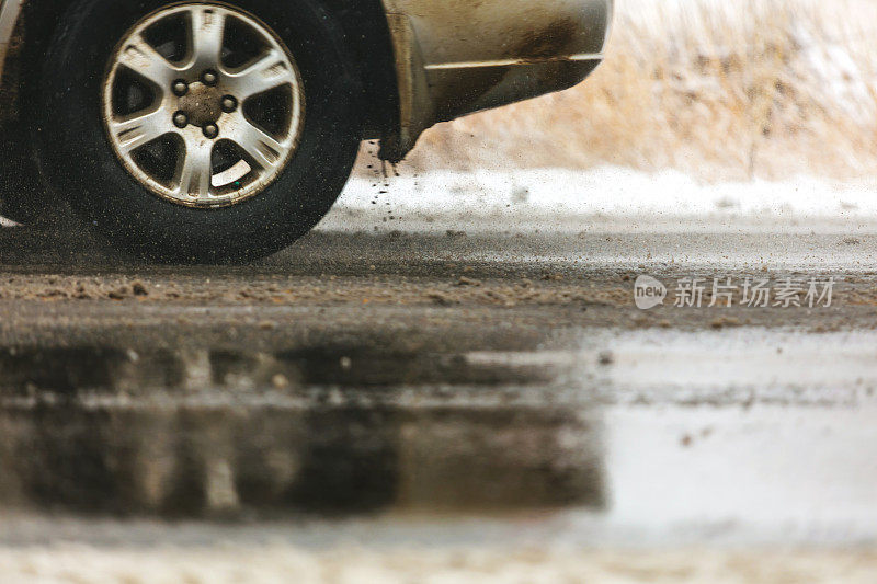
MULTIPOLYGON (((569 350, 524 353, 7 352, 0 501, 441 513, 449 523, 410 529, 455 539, 478 539, 498 520, 485 514, 543 509, 521 537, 874 541, 875 346, 873 332, 736 329, 584 330, 569 350)), ((399 537, 387 529, 376 537, 399 537)))

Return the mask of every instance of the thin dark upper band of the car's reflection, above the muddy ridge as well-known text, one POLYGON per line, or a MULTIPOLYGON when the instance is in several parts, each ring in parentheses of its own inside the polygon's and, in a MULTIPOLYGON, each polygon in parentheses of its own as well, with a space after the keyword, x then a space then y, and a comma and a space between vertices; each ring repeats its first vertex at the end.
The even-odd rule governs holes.
POLYGON ((285 353, 121 351, 107 347, 0 350, 0 399, 45 392, 140 392, 259 387, 357 388, 423 385, 546 385, 545 363, 491 364, 466 354, 319 347, 285 353))

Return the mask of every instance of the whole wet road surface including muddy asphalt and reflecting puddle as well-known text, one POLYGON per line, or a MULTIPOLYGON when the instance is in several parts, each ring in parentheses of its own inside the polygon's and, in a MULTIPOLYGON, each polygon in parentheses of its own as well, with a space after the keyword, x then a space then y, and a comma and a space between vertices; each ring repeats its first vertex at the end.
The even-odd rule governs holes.
POLYGON ((78 517, 316 514, 354 523, 257 531, 868 549, 877 230, 821 227, 335 229, 219 267, 4 229, 0 503, 18 518, 0 536, 156 541, 162 527, 78 517), (643 274, 668 305, 685 277, 835 284, 831 307, 747 308, 738 290, 643 311, 643 274), (45 509, 72 527, 29 518, 45 509))

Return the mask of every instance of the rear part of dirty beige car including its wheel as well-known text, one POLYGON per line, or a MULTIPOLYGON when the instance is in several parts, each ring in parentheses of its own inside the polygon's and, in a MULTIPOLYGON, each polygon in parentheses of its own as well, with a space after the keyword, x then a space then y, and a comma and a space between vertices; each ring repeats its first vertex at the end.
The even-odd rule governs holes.
POLYGON ((200 263, 307 233, 365 139, 398 162, 438 122, 578 84, 613 13, 613 0, 0 2, 0 213, 27 221, 66 199, 113 248, 200 263))

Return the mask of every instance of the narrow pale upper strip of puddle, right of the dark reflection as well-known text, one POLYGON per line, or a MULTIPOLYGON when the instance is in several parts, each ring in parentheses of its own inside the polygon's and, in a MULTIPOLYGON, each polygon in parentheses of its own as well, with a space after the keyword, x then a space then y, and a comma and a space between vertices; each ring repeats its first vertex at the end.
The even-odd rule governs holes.
POLYGON ((603 398, 679 405, 877 405, 877 333, 740 328, 590 335, 573 377, 603 398), (603 366, 586 364, 605 360, 603 366))

